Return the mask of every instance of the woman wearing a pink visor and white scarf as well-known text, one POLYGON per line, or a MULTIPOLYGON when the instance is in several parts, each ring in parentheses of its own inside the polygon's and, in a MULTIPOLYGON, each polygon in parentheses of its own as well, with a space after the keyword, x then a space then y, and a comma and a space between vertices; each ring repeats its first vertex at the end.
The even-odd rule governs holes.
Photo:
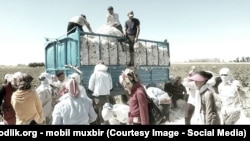
POLYGON ((213 75, 206 71, 198 71, 189 77, 190 81, 194 81, 196 91, 195 110, 192 120, 194 124, 219 125, 220 117, 217 112, 214 89, 208 84, 213 75))

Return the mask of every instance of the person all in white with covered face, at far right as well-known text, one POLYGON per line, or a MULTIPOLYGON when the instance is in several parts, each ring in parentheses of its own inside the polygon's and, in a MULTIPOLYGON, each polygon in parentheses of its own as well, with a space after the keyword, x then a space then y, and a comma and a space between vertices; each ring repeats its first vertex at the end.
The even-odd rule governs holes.
POLYGON ((241 83, 233 78, 229 68, 222 68, 219 71, 222 82, 218 86, 221 100, 222 124, 235 124, 240 118, 241 103, 239 91, 241 83))

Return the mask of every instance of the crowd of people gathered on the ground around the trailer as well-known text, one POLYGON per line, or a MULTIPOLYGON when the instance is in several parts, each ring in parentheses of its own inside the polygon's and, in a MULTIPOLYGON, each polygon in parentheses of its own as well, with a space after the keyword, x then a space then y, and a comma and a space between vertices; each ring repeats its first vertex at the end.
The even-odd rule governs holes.
POLYGON ((179 100, 185 102, 185 125, 232 125, 243 115, 245 93, 229 68, 221 68, 216 75, 192 67, 186 78, 172 78, 164 88, 142 84, 140 74, 126 68, 119 77, 128 96, 123 103, 110 102, 113 82, 107 70, 108 66, 99 61, 87 88, 81 85, 81 75, 77 72, 69 76, 61 70, 55 75, 43 72, 37 88, 32 87, 33 77, 27 73, 6 74, 0 88, 3 124, 148 125, 147 96, 162 112, 161 124, 170 121, 171 111, 178 108, 179 100))

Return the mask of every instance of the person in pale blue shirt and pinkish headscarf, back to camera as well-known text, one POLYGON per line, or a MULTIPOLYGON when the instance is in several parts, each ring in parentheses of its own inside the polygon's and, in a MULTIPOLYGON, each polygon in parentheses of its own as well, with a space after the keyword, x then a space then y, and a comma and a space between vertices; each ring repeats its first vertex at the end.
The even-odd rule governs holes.
POLYGON ((69 79, 60 92, 64 94, 60 97, 60 102, 54 107, 52 125, 89 125, 96 120, 97 114, 92 102, 87 97, 80 96, 80 90, 75 79, 69 79))

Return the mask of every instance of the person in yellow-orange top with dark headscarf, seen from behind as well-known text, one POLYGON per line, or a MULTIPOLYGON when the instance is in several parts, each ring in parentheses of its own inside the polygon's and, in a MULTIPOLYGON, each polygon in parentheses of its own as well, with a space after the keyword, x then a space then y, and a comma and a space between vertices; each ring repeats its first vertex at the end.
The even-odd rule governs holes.
POLYGON ((29 124, 31 121, 42 124, 43 107, 36 91, 32 89, 33 77, 23 73, 16 76, 16 80, 18 89, 11 97, 11 104, 16 112, 16 124, 29 124))

